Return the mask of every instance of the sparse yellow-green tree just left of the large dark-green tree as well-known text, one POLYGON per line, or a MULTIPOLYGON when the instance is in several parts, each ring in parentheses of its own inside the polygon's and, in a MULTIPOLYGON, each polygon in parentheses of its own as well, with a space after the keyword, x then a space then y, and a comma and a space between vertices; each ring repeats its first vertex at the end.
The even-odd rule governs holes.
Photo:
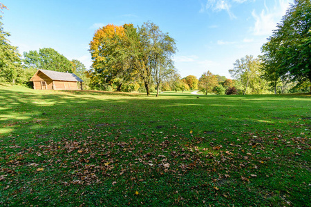
POLYGON ((234 69, 229 70, 229 73, 239 79, 244 87, 243 95, 247 92, 249 81, 258 77, 260 62, 254 59, 252 55, 246 55, 241 59, 237 59, 234 63, 234 69))

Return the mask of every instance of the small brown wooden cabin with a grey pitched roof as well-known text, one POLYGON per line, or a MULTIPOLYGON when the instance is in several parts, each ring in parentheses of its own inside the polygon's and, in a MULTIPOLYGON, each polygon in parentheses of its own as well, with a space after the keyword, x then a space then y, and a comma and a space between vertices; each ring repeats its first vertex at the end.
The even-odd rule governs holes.
POLYGON ((83 90, 82 79, 68 72, 39 69, 30 81, 37 90, 83 90))

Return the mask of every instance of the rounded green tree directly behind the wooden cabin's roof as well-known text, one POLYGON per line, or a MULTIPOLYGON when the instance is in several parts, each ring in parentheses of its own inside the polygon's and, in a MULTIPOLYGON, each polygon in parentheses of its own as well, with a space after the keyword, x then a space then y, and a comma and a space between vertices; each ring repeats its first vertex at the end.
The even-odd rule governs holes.
POLYGON ((36 50, 23 52, 23 57, 23 61, 28 67, 59 72, 73 72, 72 63, 53 48, 41 48, 39 52, 36 50))

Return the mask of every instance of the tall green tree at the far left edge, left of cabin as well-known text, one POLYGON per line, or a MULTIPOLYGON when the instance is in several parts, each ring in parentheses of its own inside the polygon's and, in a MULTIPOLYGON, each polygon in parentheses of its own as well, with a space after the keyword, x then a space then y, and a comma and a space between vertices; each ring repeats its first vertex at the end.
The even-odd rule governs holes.
MULTIPOLYGON (((1 13, 3 9, 6 9, 6 6, 0 3, 1 13)), ((7 39, 10 37, 10 33, 5 32, 2 26, 3 23, 0 21, 0 80, 15 83, 18 74, 22 72, 21 55, 19 55, 17 47, 11 46, 7 39)))

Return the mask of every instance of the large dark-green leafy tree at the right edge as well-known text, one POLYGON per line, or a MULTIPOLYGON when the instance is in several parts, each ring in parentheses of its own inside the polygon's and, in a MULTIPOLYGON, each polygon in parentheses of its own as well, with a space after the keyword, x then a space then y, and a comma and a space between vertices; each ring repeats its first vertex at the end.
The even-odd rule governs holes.
MULTIPOLYGON (((295 0, 261 48, 265 78, 311 83, 311 2, 295 0)), ((311 92, 311 85, 310 85, 311 92)))

